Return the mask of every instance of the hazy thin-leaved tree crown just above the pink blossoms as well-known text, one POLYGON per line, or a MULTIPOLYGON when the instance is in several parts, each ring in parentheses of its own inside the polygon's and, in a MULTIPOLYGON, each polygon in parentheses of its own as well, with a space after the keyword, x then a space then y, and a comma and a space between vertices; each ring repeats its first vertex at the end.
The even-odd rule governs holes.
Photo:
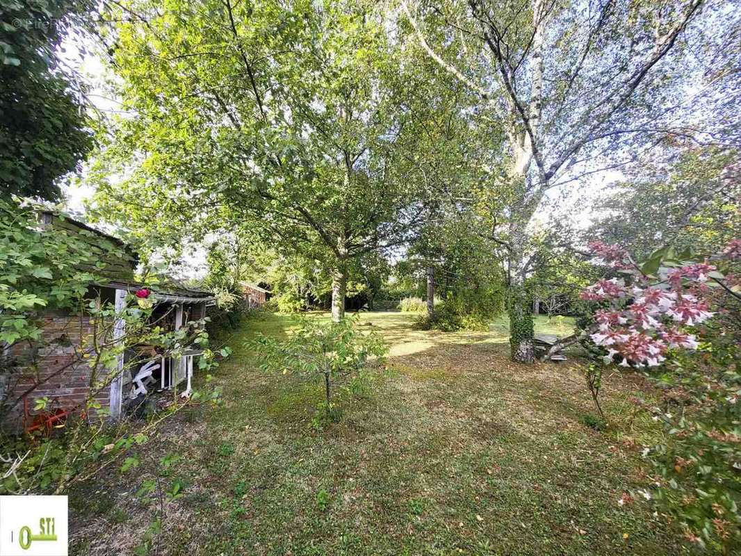
POLYGON ((699 253, 720 250, 741 229, 737 149, 679 145, 645 159, 640 171, 596 203, 603 214, 587 232, 645 259, 657 244, 699 253), (661 210, 657 210, 661 207, 661 210))

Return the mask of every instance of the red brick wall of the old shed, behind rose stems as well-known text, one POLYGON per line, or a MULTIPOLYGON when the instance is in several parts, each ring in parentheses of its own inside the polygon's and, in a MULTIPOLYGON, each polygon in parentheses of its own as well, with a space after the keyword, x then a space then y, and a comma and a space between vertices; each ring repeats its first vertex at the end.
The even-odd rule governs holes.
MULTIPOLYGON (((71 409, 84 403, 90 389, 91 370, 82 360, 82 350, 89 345, 93 334, 90 317, 49 314, 44 318, 42 341, 35 347, 16 344, 10 349, 10 356, 20 363, 20 371, 13 380, 12 399, 37 385, 27 395, 30 411, 33 413, 33 400, 48 397, 50 408, 71 409), (64 343, 54 340, 64 339, 64 343)), ((104 377, 97 377, 102 381, 104 377)), ((110 389, 106 385, 98 388, 95 395, 103 407, 109 403, 110 389)), ((9 397, 9 399, 11 399, 9 397)), ((11 419, 22 423, 22 401, 14 408, 11 419)))

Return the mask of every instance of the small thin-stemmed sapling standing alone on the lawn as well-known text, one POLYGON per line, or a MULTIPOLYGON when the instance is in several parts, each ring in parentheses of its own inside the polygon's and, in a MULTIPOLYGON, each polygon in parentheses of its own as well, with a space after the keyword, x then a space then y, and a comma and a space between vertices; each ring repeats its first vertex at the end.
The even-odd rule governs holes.
POLYGON ((378 361, 388 351, 378 334, 364 334, 351 319, 328 323, 303 319, 288 340, 258 334, 248 345, 257 352, 264 371, 322 377, 323 412, 328 416, 333 413, 331 384, 358 374, 371 360, 378 361))

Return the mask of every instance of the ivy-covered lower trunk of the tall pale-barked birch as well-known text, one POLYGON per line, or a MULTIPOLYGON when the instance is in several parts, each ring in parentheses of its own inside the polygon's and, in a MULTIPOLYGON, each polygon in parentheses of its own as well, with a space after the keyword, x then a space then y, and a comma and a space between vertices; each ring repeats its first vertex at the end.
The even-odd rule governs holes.
POLYGON ((508 291, 510 347, 513 361, 534 363, 534 325, 531 299, 525 288, 525 231, 523 228, 520 222, 515 222, 511 228, 508 291))

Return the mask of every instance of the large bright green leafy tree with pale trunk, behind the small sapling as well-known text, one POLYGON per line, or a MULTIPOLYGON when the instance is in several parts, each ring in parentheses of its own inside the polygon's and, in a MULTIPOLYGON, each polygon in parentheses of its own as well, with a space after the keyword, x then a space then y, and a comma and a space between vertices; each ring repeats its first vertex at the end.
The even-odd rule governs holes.
POLYGON ((133 116, 99 161, 101 213, 173 242, 248 222, 279 254, 321 262, 342 319, 348 267, 419 220, 403 155, 425 84, 406 79, 382 19, 307 0, 122 6, 113 67, 133 116), (107 181, 113 169, 127 179, 107 181))

